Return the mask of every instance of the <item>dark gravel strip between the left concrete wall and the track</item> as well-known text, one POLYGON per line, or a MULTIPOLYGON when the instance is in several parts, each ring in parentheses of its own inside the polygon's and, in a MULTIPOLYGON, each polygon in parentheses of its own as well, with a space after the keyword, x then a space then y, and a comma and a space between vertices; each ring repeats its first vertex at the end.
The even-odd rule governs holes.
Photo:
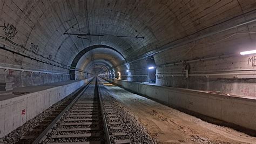
POLYGON ((63 102, 72 98, 73 95, 69 95, 68 97, 60 100, 56 104, 53 104, 51 107, 46 109, 41 114, 37 115, 35 118, 25 122, 22 126, 16 128, 11 133, 4 136, 4 138, 0 139, 0 143, 17 143, 21 140, 22 136, 29 135, 30 131, 37 126, 44 119, 48 119, 49 116, 52 115, 52 112, 56 111, 59 106, 63 104, 63 102))

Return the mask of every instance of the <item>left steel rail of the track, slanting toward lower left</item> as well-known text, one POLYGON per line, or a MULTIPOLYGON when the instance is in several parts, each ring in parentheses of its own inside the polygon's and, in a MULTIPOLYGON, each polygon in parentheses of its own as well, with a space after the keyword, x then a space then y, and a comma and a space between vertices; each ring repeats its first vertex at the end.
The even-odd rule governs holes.
MULTIPOLYGON (((95 78, 93 78, 95 79, 95 78)), ((56 123, 60 120, 60 118, 62 118, 63 114, 69 110, 69 108, 77 101, 77 99, 84 93, 84 91, 89 87, 89 85, 91 84, 91 82, 93 81, 93 79, 88 83, 86 84, 83 88, 81 88, 77 93, 77 96, 75 99, 73 99, 70 104, 65 107, 63 109, 62 112, 60 112, 58 114, 58 116, 51 122, 51 124, 46 127, 44 129, 44 131, 37 137, 37 139, 35 141, 33 141, 32 143, 33 144, 37 144, 37 143, 42 143, 42 141, 46 138, 46 134, 48 134, 49 132, 51 132, 51 129, 56 125, 56 123)))

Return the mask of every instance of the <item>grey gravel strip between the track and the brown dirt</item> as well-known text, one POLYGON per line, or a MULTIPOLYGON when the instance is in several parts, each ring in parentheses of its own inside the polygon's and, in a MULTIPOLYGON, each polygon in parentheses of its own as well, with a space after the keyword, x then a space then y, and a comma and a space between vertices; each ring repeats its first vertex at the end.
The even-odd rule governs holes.
POLYGON ((117 111, 119 121, 125 124, 124 129, 122 129, 120 132, 125 131, 127 134, 125 135, 126 137, 124 138, 123 136, 119 136, 119 138, 116 138, 115 136, 114 138, 111 138, 111 142, 114 142, 114 140, 117 139, 130 139, 133 143, 157 143, 157 140, 153 139, 149 135, 147 129, 142 124, 140 124, 136 116, 134 116, 128 109, 126 109, 122 104, 114 99, 112 97, 112 93, 109 90, 107 90, 103 85, 100 85, 100 89, 102 95, 105 95, 108 99, 110 99, 111 105, 117 111))

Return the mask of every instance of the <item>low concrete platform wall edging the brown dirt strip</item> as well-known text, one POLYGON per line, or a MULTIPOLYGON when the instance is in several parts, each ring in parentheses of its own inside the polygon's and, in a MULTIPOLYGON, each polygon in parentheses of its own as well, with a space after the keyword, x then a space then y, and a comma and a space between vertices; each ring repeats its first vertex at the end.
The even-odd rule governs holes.
POLYGON ((145 95, 165 105, 178 109, 210 116, 221 121, 256 131, 256 100, 230 97, 202 91, 147 85, 117 79, 109 79, 111 83, 127 90, 145 95))

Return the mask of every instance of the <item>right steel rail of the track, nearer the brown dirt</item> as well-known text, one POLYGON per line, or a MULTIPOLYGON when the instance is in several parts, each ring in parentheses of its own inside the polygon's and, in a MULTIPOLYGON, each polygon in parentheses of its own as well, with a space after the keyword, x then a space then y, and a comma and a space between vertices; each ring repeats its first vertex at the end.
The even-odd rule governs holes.
POLYGON ((103 117, 103 122, 104 122, 104 132, 105 132, 106 143, 111 144, 109 129, 107 128, 107 123, 106 123, 106 118, 105 118, 105 113, 104 113, 104 108, 103 108, 102 94, 100 93, 100 88, 99 88, 97 77, 96 77, 96 85, 97 85, 96 87, 97 87, 97 94, 98 94, 98 97, 99 97, 100 109, 102 110, 102 117, 103 117))

